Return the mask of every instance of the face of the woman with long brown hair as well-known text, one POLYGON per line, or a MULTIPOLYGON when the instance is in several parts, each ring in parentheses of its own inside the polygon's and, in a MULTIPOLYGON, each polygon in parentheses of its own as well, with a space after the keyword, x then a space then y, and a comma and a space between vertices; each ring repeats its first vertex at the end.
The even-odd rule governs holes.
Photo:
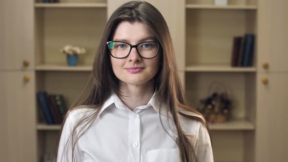
MULTIPOLYGON (((148 26, 142 22, 121 22, 111 41, 123 41, 136 45, 143 41, 156 41, 148 26), (150 37, 150 39, 143 40, 150 37), (142 41, 141 41, 142 40, 142 41)), ((110 55, 112 69, 122 84, 141 85, 151 81, 159 70, 160 54, 152 59, 142 58, 136 48, 132 48, 128 57, 117 59, 110 55), (131 70, 131 67, 140 67, 141 70, 131 70)))

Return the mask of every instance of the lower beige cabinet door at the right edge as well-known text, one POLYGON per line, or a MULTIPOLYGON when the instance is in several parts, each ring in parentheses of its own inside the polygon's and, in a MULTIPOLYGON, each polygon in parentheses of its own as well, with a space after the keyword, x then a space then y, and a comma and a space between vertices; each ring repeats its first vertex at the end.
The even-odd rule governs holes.
POLYGON ((257 80, 256 162, 288 162, 288 73, 258 74, 257 80))

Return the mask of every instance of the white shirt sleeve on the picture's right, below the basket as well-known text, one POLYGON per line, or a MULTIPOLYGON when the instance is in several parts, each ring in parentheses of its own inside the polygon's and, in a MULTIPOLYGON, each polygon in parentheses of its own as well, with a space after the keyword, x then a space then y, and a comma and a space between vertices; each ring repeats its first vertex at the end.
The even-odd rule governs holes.
POLYGON ((197 158, 199 162, 214 162, 213 151, 209 133, 202 122, 198 122, 198 148, 197 158))

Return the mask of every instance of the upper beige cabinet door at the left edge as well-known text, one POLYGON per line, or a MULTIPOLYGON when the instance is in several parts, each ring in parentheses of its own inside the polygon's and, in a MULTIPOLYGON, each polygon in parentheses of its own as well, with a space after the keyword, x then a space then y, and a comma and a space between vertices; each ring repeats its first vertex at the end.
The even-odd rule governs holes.
POLYGON ((1 0, 0 11, 0 70, 33 69, 34 0, 1 0))

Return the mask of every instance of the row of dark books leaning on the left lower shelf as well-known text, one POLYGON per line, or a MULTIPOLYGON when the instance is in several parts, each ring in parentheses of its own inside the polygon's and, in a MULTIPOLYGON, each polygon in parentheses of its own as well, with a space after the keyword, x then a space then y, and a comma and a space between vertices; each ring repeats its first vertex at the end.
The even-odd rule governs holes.
POLYGON ((46 91, 37 92, 37 103, 47 124, 62 124, 67 107, 62 94, 47 94, 46 91))

